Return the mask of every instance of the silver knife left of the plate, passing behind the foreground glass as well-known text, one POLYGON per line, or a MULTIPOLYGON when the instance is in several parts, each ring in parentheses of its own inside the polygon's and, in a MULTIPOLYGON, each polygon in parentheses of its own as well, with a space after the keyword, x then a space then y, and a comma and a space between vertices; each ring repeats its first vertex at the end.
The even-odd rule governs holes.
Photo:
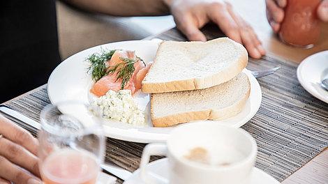
MULTIPOLYGON (((10 109, 9 107, 6 107, 4 105, 0 106, 0 112, 10 117, 10 119, 18 125, 21 125, 23 128, 26 128, 28 130, 32 130, 33 132, 37 132, 37 130, 40 130, 41 128, 40 123, 34 121, 33 119, 27 116, 24 116, 23 114, 20 114, 20 112, 15 112, 13 109, 10 109)), ((103 164, 100 164, 100 167, 105 172, 112 174, 117 178, 122 179, 123 181, 132 176, 132 173, 130 171, 119 167, 113 162, 105 162, 103 164)))

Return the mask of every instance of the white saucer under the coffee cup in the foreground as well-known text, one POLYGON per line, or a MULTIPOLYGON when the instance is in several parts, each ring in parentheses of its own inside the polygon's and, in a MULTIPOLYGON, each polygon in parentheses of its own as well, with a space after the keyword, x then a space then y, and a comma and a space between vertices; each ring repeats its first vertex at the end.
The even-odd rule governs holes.
MULTIPOLYGON (((148 164, 149 171, 152 171, 154 174, 168 178, 169 169, 168 169, 168 159, 163 158, 161 160, 156 160, 148 164)), ((275 178, 272 178, 269 174, 261 171, 260 169, 254 168, 250 184, 278 184, 275 178)), ((139 177, 139 169, 137 169, 133 175, 124 182, 124 184, 144 184, 139 177)))

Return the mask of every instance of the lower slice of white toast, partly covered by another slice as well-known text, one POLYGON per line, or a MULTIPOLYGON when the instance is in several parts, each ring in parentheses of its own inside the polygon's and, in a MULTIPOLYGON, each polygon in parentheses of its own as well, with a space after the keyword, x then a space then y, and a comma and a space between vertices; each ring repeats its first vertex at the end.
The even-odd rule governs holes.
POLYGON ((241 72, 228 82, 208 89, 151 94, 154 127, 168 127, 197 120, 222 120, 236 116, 251 91, 247 75, 241 72))

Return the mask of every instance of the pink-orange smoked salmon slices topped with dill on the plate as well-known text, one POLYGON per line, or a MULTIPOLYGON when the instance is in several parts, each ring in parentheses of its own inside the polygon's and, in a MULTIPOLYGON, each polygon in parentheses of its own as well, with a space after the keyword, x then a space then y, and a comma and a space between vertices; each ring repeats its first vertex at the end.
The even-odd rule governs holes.
MULTIPOLYGON (((122 59, 135 59, 137 60, 133 67, 134 72, 129 79, 128 82, 126 82, 126 85, 124 86, 124 89, 131 90, 131 93, 135 93, 135 91, 141 89, 141 82, 144 79, 144 76, 147 74, 149 70, 149 66, 145 66, 144 62, 137 58, 135 56, 135 52, 128 51, 128 50, 116 50, 114 54, 112 55, 112 58, 107 61, 106 67, 109 68, 110 66, 116 66, 119 63, 124 63, 122 59)), ((91 93, 94 93, 94 95, 100 97, 102 95, 105 95, 107 91, 113 90, 113 91, 119 91, 121 89, 121 83, 122 79, 117 79, 118 72, 110 73, 109 75, 105 75, 101 79, 98 80, 92 86, 90 89, 91 93)))

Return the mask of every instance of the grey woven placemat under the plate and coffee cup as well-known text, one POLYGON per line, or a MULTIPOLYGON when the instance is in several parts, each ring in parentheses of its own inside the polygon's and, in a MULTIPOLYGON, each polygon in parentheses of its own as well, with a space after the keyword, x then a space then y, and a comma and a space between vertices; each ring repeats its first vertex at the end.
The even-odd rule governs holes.
MULTIPOLYGON (((328 146, 328 105, 301 87, 295 63, 264 57, 251 59, 248 64, 251 69, 272 66, 281 66, 281 70, 258 79, 262 105, 242 128, 258 143, 256 167, 283 181, 328 146)), ((45 86, 6 105, 38 121, 40 110, 49 103, 45 86)), ((107 139, 106 159, 134 171, 143 147, 144 144, 107 139)))

